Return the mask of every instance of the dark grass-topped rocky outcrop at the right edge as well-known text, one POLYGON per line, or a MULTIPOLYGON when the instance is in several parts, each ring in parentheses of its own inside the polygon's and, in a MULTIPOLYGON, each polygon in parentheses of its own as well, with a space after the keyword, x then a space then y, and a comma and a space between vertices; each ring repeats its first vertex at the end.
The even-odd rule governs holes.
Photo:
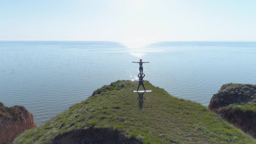
POLYGON ((224 84, 212 96, 208 109, 256 137, 256 85, 224 84))

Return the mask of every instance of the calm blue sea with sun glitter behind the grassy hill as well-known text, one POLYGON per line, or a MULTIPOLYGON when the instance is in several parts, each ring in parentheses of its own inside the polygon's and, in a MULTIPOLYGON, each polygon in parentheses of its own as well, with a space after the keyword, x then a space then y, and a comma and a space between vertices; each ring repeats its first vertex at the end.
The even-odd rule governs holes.
POLYGON ((204 106, 222 84, 256 84, 256 42, 0 41, 0 101, 39 125, 105 84, 137 80, 139 59, 146 80, 204 106))

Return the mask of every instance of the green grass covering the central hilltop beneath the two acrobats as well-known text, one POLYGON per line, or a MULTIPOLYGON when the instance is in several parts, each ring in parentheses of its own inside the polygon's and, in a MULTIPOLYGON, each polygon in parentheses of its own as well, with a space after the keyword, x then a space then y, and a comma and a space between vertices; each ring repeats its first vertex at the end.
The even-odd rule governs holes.
POLYGON ((256 143, 204 106, 144 84, 152 92, 143 95, 143 104, 132 92, 137 81, 117 81, 23 133, 14 143, 47 143, 59 134, 91 126, 118 130, 143 143, 256 143))

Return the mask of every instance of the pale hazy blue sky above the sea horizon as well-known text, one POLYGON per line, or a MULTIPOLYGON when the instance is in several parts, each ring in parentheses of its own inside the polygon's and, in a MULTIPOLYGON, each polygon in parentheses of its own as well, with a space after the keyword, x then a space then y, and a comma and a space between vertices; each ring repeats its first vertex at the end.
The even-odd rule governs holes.
POLYGON ((256 41, 255 0, 0 0, 0 40, 256 41))

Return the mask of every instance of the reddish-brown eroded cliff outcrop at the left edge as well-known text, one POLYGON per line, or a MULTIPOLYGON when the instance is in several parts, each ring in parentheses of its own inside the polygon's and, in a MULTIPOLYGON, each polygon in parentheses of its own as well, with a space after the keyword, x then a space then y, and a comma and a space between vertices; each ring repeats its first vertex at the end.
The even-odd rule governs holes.
POLYGON ((25 107, 5 107, 0 102, 0 144, 11 143, 22 132, 33 127, 36 127, 33 115, 25 107))

